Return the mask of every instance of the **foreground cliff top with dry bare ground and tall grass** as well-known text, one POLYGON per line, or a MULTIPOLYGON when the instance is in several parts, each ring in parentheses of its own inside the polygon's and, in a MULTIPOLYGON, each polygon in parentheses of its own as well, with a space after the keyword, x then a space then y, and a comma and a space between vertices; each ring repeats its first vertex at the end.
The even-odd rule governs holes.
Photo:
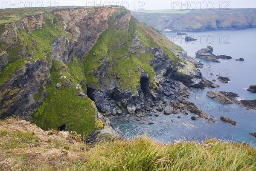
POLYGON ((23 120, 0 121, 0 170, 256 170, 244 143, 135 140, 84 144, 74 132, 43 131, 23 120))

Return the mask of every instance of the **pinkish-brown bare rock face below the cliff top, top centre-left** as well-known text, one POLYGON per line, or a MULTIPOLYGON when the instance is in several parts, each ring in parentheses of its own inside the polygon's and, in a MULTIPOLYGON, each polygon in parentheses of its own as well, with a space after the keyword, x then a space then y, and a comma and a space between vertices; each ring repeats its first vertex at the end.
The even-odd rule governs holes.
MULTIPOLYGON (((72 54, 81 57, 81 54, 89 51, 100 34, 108 28, 108 19, 116 11, 116 8, 78 8, 76 10, 55 10, 54 14, 58 14, 63 19, 65 31, 74 36, 77 43, 74 43, 72 54), (88 14, 92 14, 91 16, 88 14)), ((67 43, 67 40, 57 40, 61 44, 67 43)), ((66 46, 68 49, 69 47, 66 46)), ((66 50, 62 50, 64 53, 66 50)), ((69 54, 67 51, 66 53, 69 54)), ((67 54, 64 54, 65 56, 67 54)))

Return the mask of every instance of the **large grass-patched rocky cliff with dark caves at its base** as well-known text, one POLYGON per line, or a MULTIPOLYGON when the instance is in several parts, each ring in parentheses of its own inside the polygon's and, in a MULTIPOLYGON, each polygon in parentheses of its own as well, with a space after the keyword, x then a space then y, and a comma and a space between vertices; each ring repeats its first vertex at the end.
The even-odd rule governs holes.
POLYGON ((0 118, 92 137, 115 132, 104 116, 116 114, 169 106, 207 118, 184 97, 188 87, 216 85, 128 10, 60 8, 1 28, 0 118))

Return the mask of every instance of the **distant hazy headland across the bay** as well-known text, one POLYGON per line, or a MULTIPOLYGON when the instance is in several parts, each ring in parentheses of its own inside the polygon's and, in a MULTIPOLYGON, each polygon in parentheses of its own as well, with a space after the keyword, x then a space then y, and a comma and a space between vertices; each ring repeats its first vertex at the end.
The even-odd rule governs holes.
POLYGON ((185 13, 132 14, 137 20, 161 31, 236 30, 256 27, 255 9, 195 9, 185 13))

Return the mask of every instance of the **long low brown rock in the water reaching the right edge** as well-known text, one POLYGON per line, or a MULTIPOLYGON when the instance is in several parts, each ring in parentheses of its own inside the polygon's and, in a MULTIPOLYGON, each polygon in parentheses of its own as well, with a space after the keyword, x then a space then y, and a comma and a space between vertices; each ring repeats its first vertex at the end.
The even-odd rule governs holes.
POLYGON ((256 100, 238 100, 239 95, 232 92, 225 91, 207 91, 206 94, 211 99, 215 99, 221 103, 233 104, 236 103, 247 109, 256 109, 256 100))

